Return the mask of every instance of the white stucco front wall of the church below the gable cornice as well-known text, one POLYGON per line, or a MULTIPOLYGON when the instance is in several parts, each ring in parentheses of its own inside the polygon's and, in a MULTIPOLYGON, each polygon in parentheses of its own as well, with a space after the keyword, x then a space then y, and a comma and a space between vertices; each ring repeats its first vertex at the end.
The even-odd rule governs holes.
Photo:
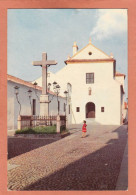
MULTIPOLYGON (((85 115, 85 106, 93 102, 96 108, 96 118, 88 119, 100 124, 120 124, 120 85, 113 79, 113 63, 81 63, 68 64, 56 74, 57 82, 61 89, 66 88, 66 83, 72 84, 72 123, 81 123, 85 115), (94 72, 94 83, 86 84, 86 73, 94 72), (91 87, 92 95, 88 95, 91 87), (80 107, 80 112, 76 112, 80 107), (105 112, 101 112, 101 107, 105 112)), ((62 91, 61 91, 62 92, 62 91)))

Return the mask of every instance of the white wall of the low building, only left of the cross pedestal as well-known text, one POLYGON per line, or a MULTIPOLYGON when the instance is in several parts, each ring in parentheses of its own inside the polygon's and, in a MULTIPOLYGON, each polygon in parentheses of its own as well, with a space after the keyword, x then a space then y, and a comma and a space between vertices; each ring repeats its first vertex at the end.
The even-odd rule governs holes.
MULTIPOLYGON (((21 103, 21 115, 31 115, 31 106, 28 97, 28 90, 32 90, 32 99, 36 99, 36 114, 39 114, 40 106, 38 99, 35 94, 35 90, 33 88, 27 87, 25 85, 21 85, 18 83, 14 83, 12 81, 8 81, 8 129, 17 129, 17 117, 19 115, 20 106, 17 102, 16 95, 14 94, 14 87, 19 88, 18 99, 21 103)), ((38 96, 41 94, 41 91, 36 90, 38 96)))

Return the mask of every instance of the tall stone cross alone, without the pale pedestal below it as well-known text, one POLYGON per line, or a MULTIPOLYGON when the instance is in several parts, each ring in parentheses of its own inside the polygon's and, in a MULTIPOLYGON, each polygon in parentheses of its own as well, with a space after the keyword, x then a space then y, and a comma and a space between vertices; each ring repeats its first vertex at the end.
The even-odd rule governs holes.
POLYGON ((34 66, 42 67, 42 95, 47 95, 47 67, 50 65, 56 65, 55 60, 47 61, 47 53, 42 53, 42 61, 34 61, 34 66))

